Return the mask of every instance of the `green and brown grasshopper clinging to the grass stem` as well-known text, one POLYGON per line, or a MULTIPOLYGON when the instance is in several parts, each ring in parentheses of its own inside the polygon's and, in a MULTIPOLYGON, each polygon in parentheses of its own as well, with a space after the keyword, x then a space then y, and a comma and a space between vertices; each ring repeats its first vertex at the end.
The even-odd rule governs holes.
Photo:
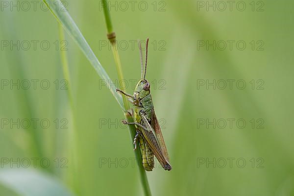
POLYGON ((141 80, 138 82, 134 94, 127 94, 119 89, 124 96, 135 106, 135 118, 134 123, 128 123, 123 120, 124 124, 135 124, 137 133, 134 138, 134 150, 137 148, 137 141, 141 148, 141 154, 143 159, 143 167, 146 171, 152 171, 154 168, 154 155, 159 163, 165 170, 172 170, 172 166, 169 163, 169 155, 167 147, 165 145, 160 125, 156 118, 152 98, 150 95, 150 84, 145 79, 147 69, 147 55, 148 55, 148 41, 146 42, 146 57, 145 57, 145 69, 143 70, 143 59, 141 44, 139 44, 141 54, 141 80))

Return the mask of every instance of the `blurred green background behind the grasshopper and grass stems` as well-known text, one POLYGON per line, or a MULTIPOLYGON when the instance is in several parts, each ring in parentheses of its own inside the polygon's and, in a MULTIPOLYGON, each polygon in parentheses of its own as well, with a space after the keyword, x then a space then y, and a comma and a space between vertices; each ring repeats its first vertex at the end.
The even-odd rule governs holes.
MULTIPOLYGON (((27 1, 31 7, 25 11, 23 1, 14 0, 18 11, 11 2, 1 1, 0 11, 1 195, 25 195, 26 189, 42 196, 66 195, 55 186, 81 196, 143 195, 137 165, 132 165, 129 131, 120 123, 123 113, 104 81, 71 37, 66 34, 61 43, 58 23, 40 9, 41 3, 34 10, 27 1), (31 43, 27 50, 25 45, 11 46, 11 41, 25 40, 31 43), (36 49, 32 40, 38 41, 36 49), (44 40, 48 50, 40 46, 44 40), (67 90, 61 89, 62 46, 67 49, 74 111, 67 90), (46 80, 50 87, 44 90, 40 82, 36 89, 11 87, 11 81, 34 79, 46 80), (18 119, 39 123, 24 128, 13 123, 18 119), (49 121, 48 128, 42 128, 42 119, 49 121), (31 158, 39 158, 36 168, 31 158), (49 160, 48 167, 42 158, 49 160), (24 167, 27 159, 29 168, 24 167), (42 188, 50 183, 42 184, 41 178, 51 188, 42 188)), ((66 2, 98 60, 117 81, 112 51, 103 46, 101 2, 66 2)), ((147 79, 153 81, 151 94, 172 164, 171 172, 158 163, 147 172, 152 195, 294 195, 294 2, 233 1, 231 8, 218 0, 135 2, 132 7, 130 1, 111 0, 110 13, 128 93, 134 90, 131 81, 140 79, 139 50, 132 43, 150 39, 147 79), (215 49, 207 46, 214 41, 215 49), (244 89, 237 80, 246 84, 244 89), (214 81, 215 89, 206 86, 214 81), (234 119, 231 127, 227 119, 234 119)))

